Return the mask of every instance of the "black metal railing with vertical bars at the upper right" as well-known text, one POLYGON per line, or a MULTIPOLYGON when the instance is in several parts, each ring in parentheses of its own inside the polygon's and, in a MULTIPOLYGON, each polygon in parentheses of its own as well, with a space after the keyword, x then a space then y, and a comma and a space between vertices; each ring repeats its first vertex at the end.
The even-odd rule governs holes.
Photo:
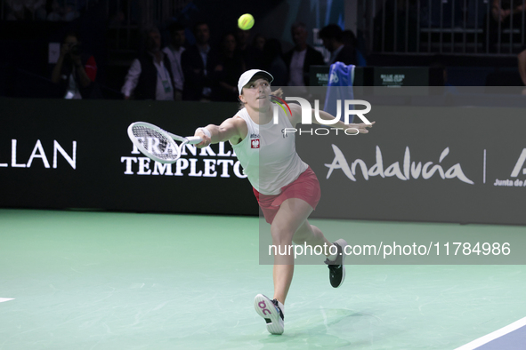
POLYGON ((524 49, 525 0, 360 0, 369 51, 512 56, 524 49))

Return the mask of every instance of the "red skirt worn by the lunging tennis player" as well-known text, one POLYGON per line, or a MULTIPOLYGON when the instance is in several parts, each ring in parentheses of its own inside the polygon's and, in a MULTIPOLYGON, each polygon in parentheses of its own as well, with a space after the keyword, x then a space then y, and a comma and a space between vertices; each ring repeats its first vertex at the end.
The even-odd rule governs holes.
POLYGON ((311 167, 303 171, 293 182, 281 187, 281 193, 279 195, 263 195, 257 192, 254 187, 252 188, 255 198, 257 198, 257 203, 259 203, 263 211, 265 220, 269 224, 274 220, 281 203, 285 202, 288 198, 303 199, 303 201, 312 206, 313 210, 316 210, 316 206, 318 202, 320 202, 320 182, 311 167))

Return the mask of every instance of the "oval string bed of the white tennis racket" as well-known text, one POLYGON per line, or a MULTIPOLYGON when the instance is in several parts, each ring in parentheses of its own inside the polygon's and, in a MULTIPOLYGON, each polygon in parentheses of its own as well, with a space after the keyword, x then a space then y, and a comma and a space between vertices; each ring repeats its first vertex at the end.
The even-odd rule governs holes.
POLYGON ((162 133, 143 125, 134 125, 133 132, 134 137, 151 155, 166 161, 179 158, 179 148, 173 139, 168 139, 162 133))

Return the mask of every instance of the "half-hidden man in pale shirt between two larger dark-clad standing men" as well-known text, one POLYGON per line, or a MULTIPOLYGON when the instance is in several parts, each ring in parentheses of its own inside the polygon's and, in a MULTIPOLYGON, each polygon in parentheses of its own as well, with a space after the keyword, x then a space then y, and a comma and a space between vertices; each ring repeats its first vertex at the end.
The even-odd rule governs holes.
POLYGON ((170 60, 172 74, 174 75, 174 100, 182 100, 182 86, 184 84, 184 75, 182 74, 181 56, 186 50, 182 45, 185 41, 184 27, 174 23, 170 26, 171 42, 164 49, 168 60, 170 60))

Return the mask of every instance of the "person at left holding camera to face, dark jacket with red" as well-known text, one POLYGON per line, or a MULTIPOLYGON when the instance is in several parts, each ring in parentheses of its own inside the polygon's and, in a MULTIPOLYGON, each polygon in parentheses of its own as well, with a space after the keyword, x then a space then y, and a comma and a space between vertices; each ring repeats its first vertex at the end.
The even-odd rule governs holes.
POLYGON ((93 56, 85 54, 76 33, 64 36, 61 55, 52 73, 52 82, 61 87, 64 99, 87 99, 92 96, 97 76, 93 56))

